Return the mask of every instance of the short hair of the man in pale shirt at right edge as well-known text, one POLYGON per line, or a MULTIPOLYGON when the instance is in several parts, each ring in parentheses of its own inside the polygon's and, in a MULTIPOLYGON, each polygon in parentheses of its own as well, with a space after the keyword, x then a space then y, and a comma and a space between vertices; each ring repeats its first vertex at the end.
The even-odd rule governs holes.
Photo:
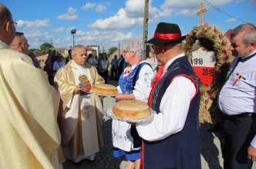
POLYGON ((251 41, 256 41, 256 27, 250 23, 242 24, 234 28, 234 31, 231 32, 231 39, 242 31, 244 31, 243 42, 245 45, 249 45, 251 41))

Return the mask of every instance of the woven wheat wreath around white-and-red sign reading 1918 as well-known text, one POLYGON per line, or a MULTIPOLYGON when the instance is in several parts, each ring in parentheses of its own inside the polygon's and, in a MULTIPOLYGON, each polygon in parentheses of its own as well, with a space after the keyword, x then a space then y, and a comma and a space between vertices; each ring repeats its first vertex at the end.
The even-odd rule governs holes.
POLYGON ((228 38, 214 25, 195 27, 187 35, 183 50, 194 70, 200 70, 197 74, 197 78, 201 81, 200 123, 214 123, 220 119, 217 94, 224 84, 229 65, 233 60, 229 46, 228 38), (212 58, 204 58, 207 55, 212 58))

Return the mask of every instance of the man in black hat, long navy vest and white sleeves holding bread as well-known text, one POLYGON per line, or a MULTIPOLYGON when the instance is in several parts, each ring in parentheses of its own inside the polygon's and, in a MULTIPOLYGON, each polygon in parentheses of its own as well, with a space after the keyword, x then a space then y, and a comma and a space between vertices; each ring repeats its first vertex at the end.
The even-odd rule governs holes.
POLYGON ((163 66, 152 84, 148 104, 153 121, 136 124, 143 138, 143 168, 201 168, 198 111, 200 90, 193 68, 182 51, 176 24, 159 23, 153 44, 163 66))

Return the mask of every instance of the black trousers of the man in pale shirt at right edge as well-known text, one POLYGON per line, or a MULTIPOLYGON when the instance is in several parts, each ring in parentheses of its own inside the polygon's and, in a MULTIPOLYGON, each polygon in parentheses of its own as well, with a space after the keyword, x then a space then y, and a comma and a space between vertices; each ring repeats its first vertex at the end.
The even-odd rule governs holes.
POLYGON ((221 121, 221 151, 224 169, 251 169, 248 147, 256 134, 256 114, 244 117, 223 116, 221 121))

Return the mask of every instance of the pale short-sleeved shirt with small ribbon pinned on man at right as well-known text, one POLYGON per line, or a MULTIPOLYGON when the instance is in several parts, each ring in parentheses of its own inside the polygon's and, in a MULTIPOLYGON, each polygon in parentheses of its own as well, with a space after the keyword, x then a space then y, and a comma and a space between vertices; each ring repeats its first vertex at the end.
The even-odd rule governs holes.
MULTIPOLYGON (((253 53, 255 53, 254 51, 253 53)), ((253 54, 251 53, 251 55, 253 54)), ((231 69, 237 58, 231 64, 231 69)), ((218 105, 224 114, 256 113, 256 56, 248 61, 239 62, 237 67, 221 89, 218 105), (238 75, 242 78, 237 80, 238 75), (235 82, 236 81, 236 82, 235 82)), ((230 71, 227 73, 227 75, 230 71)))

